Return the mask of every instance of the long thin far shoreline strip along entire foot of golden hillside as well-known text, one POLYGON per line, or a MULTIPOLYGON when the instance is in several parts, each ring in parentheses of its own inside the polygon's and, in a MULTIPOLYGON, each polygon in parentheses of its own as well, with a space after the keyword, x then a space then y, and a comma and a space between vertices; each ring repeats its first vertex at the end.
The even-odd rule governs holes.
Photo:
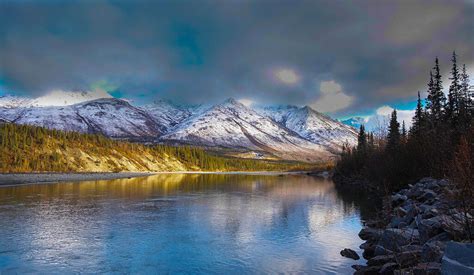
MULTIPOLYGON (((85 173, 61 173, 61 172, 44 172, 44 173, 0 173, 0 187, 25 185, 25 184, 41 184, 56 182, 78 182, 78 181, 95 181, 95 180, 112 180, 123 178, 148 177, 159 174, 217 174, 217 175, 300 175, 312 174, 308 171, 229 171, 229 172, 212 172, 212 171, 169 171, 169 172, 85 172, 85 173)), ((314 174, 316 175, 316 174, 314 174)))

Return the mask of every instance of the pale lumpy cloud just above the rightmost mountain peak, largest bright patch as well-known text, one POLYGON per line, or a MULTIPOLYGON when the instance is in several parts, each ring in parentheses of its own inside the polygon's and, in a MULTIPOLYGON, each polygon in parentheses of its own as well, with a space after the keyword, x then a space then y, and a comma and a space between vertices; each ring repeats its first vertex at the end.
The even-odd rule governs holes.
POLYGON ((350 106, 353 97, 345 94, 339 83, 334 80, 322 81, 319 90, 321 96, 311 104, 311 107, 320 112, 335 112, 350 106))

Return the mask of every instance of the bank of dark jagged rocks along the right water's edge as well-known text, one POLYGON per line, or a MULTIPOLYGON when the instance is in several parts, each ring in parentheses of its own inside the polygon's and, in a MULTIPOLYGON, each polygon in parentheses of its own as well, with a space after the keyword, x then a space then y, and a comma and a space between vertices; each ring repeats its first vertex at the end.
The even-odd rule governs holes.
POLYGON ((463 243, 466 215, 456 210, 452 188, 425 178, 393 194, 384 216, 359 233, 367 265, 354 265, 355 274, 474 274, 474 245, 463 243))

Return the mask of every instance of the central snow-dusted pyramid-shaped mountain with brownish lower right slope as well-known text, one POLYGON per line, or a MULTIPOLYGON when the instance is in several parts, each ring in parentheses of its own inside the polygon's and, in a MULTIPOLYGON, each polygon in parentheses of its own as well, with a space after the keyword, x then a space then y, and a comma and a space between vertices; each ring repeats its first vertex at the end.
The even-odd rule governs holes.
POLYGON ((183 121, 161 140, 262 150, 287 159, 307 161, 332 157, 322 146, 299 137, 234 99, 183 121))

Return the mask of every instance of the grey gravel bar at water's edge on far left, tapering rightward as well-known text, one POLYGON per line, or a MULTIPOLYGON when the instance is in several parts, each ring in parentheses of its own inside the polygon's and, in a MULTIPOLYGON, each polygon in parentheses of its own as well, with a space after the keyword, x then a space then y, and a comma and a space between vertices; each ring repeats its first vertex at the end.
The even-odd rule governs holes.
POLYGON ((154 173, 21 173, 0 174, 0 186, 59 181, 111 180, 133 177, 147 177, 154 173))

